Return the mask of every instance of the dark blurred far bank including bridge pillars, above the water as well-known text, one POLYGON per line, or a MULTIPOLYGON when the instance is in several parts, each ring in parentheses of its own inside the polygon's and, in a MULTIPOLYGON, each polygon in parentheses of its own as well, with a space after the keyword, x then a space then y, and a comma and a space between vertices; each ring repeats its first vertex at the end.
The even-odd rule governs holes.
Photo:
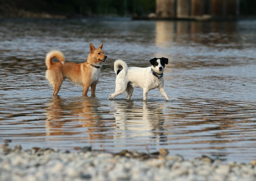
POLYGON ((256 15, 255 0, 0 0, 0 18, 234 18, 256 15))

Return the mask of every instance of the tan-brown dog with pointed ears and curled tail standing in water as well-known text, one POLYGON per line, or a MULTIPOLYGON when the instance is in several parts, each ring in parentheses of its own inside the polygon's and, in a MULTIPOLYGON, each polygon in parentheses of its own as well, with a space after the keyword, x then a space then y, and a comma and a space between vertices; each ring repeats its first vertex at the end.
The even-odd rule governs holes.
POLYGON ((103 43, 97 49, 90 43, 90 53, 87 62, 84 63, 65 62, 65 57, 59 50, 47 53, 45 77, 53 86, 52 94, 58 94, 63 80, 67 78, 70 82, 84 87, 83 95, 87 95, 90 86, 91 94, 95 95, 96 84, 100 76, 100 64, 107 58, 103 54, 102 47, 103 43), (60 62, 52 62, 53 58, 57 58, 60 62))

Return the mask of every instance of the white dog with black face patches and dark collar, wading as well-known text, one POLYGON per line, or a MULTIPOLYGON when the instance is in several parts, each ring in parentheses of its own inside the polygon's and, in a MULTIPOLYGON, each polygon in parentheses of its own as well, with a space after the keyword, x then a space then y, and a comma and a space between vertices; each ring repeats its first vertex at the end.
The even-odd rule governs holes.
POLYGON ((116 60, 114 70, 116 72, 116 91, 109 95, 109 99, 126 92, 126 99, 132 97, 134 87, 143 89, 143 100, 147 100, 148 91, 158 87, 166 100, 169 100, 164 91, 164 66, 168 64, 168 58, 153 58, 149 61, 151 67, 127 67, 127 64, 122 60, 116 60), (123 69, 119 69, 119 66, 123 69))

